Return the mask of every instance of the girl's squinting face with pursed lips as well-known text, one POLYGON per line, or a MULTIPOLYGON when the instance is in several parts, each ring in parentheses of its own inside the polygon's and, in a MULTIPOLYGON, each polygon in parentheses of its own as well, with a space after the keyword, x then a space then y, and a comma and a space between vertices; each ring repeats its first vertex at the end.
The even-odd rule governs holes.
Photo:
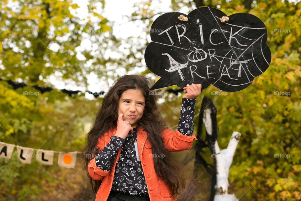
POLYGON ((128 89, 124 91, 118 101, 118 116, 123 113, 123 121, 128 121, 133 127, 143 114, 145 98, 139 89, 128 89))

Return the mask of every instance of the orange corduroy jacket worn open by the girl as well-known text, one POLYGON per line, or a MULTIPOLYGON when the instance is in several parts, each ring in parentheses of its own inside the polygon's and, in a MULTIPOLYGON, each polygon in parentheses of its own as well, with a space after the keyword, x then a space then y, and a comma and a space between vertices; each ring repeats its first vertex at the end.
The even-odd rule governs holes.
MULTIPOLYGON (((117 122, 118 125, 118 122, 117 122)), ((97 146, 101 150, 111 140, 110 137, 116 133, 117 126, 114 129, 109 129, 103 136, 98 138, 97 146)), ((141 160, 142 170, 145 176, 147 191, 151 201, 174 201, 171 192, 167 184, 157 177, 154 168, 153 158, 149 157, 152 154, 152 145, 147 138, 147 133, 143 131, 143 128, 138 128, 137 144, 138 152, 141 160)), ((179 131, 172 131, 171 129, 165 129, 162 133, 164 146, 170 152, 188 150, 193 142, 193 139, 198 140, 195 135, 187 136, 183 135, 179 131)), ((119 160, 120 149, 116 153, 116 158, 109 171, 103 171, 96 166, 95 158, 88 163, 88 172, 94 180, 102 180, 102 183, 96 193, 95 201, 106 201, 113 184, 113 177, 115 173, 116 163, 119 160)))

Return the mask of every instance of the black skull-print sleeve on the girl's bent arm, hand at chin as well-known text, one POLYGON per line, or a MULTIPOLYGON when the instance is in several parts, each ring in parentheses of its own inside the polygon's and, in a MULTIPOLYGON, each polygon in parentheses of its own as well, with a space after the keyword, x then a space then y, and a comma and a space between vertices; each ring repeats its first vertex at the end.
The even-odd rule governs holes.
POLYGON ((95 157, 96 166, 103 171, 109 171, 114 162, 116 153, 124 144, 124 139, 118 136, 111 136, 111 141, 95 157))

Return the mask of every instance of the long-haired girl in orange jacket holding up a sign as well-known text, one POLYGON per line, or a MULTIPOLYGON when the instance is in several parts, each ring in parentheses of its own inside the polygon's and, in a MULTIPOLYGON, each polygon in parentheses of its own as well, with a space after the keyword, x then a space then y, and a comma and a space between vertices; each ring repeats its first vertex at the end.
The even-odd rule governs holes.
POLYGON ((96 201, 175 200, 185 186, 182 166, 169 152, 187 150, 193 139, 195 98, 201 84, 183 89, 177 130, 167 128, 140 75, 117 79, 103 98, 83 151, 96 201))

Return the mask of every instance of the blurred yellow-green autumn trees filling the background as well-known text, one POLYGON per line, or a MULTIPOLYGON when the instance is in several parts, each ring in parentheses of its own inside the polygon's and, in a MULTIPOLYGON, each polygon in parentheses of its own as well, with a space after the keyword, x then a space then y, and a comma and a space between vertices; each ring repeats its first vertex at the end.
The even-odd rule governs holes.
MULTIPOLYGON (((84 94, 69 97, 59 90, 26 95, 24 92, 40 92, 32 85, 52 87, 48 78, 55 75, 57 80, 87 88, 91 73, 107 82, 120 76, 117 70, 127 74, 134 67, 142 75, 151 75, 145 67, 144 50, 150 43, 150 26, 160 14, 171 9, 185 9, 188 14, 200 6, 219 8, 227 15, 246 12, 267 27, 270 67, 242 91, 214 95, 212 92, 219 90, 211 85, 202 92, 218 109, 220 148, 227 147, 233 131, 241 133, 228 191, 240 200, 300 200, 301 3, 171 0, 170 8, 163 8, 162 2, 141 0, 133 4, 135 10, 126 18, 140 22, 143 33, 138 38, 117 38, 112 28, 118 22, 101 14, 106 9, 104 0, 89 1, 85 21, 76 17, 78 5, 71 0, 1 1, 0 78, 28 86, 14 89, 0 81, 0 141, 36 149, 80 151, 103 96, 89 100, 84 94), (91 49, 81 48, 86 39, 92 42, 91 49), (106 56, 108 52, 110 56, 106 56), (289 157, 277 158, 277 154, 289 157)), ((179 119, 181 96, 162 96, 162 115, 173 130, 179 119)), ((195 134, 201 97, 196 103, 195 134)), ((193 149, 175 154, 182 161, 186 158, 185 174, 192 175, 193 149)), ((1 200, 95 199, 79 155, 74 169, 59 167, 57 154, 52 166, 41 165, 35 158, 31 164, 23 164, 17 155, 15 148, 10 160, 0 158, 1 200)), ((213 162, 209 150, 205 156, 208 164, 213 162)), ((188 186, 183 194, 193 193, 195 200, 206 200, 210 191, 206 179, 210 182, 210 175, 200 174, 194 181, 201 181, 200 187, 191 192, 193 185, 188 186)))

